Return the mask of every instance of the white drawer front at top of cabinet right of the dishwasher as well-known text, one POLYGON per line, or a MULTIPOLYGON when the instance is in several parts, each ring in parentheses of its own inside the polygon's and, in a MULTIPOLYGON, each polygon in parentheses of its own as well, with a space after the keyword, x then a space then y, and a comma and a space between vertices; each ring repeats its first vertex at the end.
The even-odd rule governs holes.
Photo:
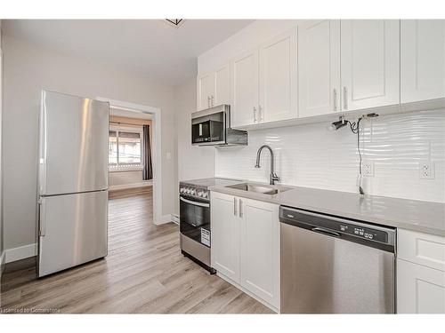
POLYGON ((398 257, 445 272, 445 237, 399 229, 398 257))

